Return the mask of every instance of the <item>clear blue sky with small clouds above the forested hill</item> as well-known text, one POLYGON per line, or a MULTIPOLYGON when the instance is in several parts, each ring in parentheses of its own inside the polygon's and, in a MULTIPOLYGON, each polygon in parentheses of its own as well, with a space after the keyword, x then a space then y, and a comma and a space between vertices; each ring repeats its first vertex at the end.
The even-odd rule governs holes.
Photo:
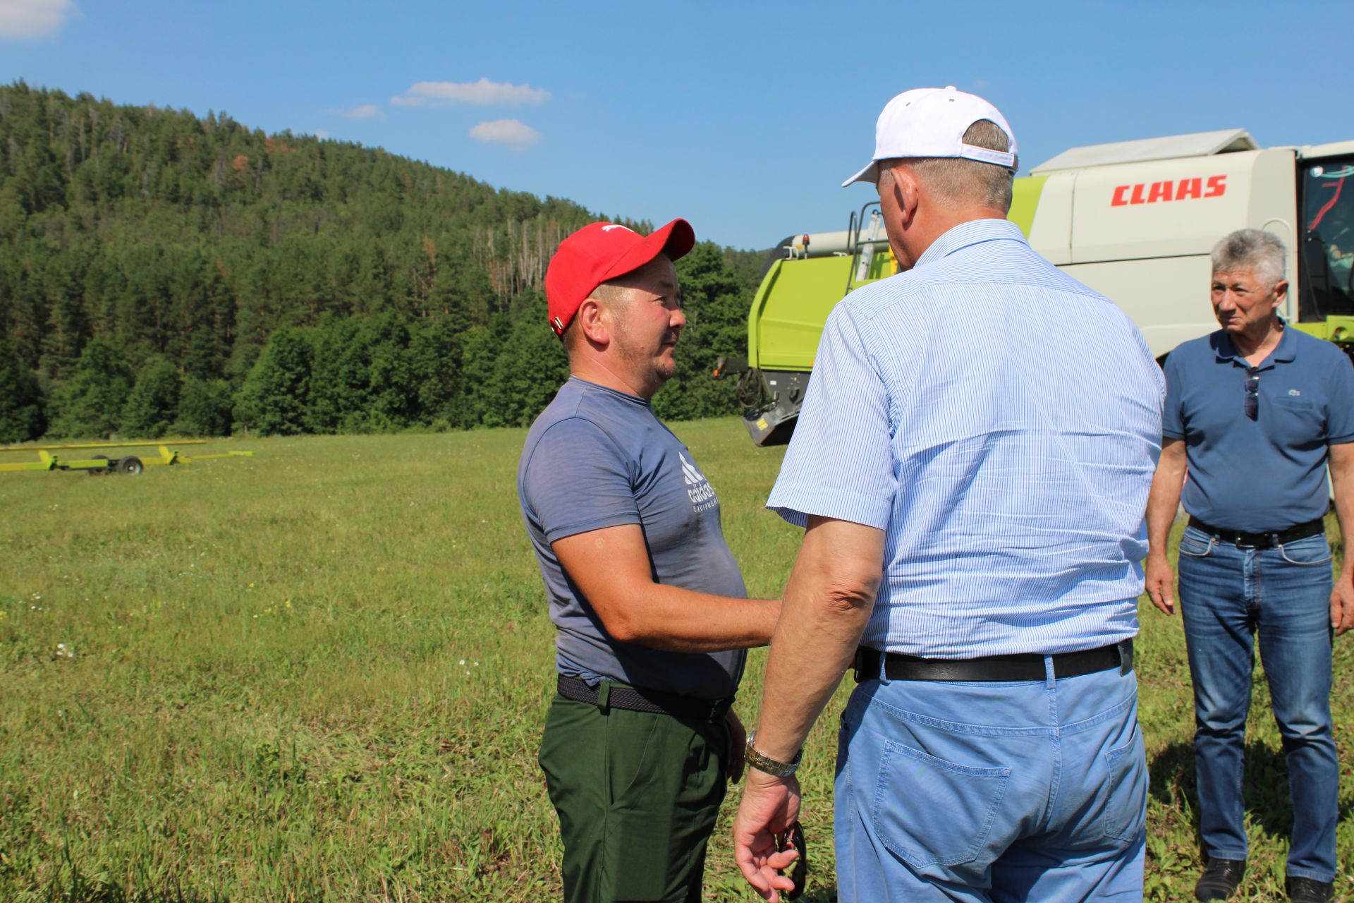
POLYGON ((1354 4, 0 0, 0 81, 226 111, 768 248, 844 229, 875 118, 955 84, 1025 167, 1244 127, 1354 138, 1354 4))

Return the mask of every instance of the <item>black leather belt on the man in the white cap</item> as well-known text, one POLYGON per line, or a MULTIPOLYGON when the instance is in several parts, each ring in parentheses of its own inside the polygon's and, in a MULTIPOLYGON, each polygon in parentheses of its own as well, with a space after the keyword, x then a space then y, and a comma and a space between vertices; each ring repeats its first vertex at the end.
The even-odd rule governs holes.
MULTIPOLYGON (((921 658, 902 653, 880 653, 861 646, 856 650, 856 682, 879 677, 880 657, 884 676, 891 681, 1041 681, 1045 678, 1044 657, 1036 654, 988 655, 986 658, 921 658)), ((1133 670, 1133 640, 1101 646, 1082 653, 1059 653, 1052 657, 1053 677, 1076 677, 1117 667, 1120 674, 1133 670)))

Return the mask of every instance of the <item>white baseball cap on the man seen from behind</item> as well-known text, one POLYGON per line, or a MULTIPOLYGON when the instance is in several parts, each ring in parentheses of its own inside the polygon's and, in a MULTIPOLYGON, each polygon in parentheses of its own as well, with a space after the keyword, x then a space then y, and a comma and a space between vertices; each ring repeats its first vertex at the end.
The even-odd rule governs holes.
POLYGON ((842 183, 879 181, 879 161, 894 157, 964 157, 998 167, 1016 167, 1016 135, 1001 110, 978 95, 945 88, 913 88, 898 95, 875 123, 875 158, 842 183), (964 144, 964 133, 979 119, 991 119, 1006 137, 1010 150, 988 150, 964 144))

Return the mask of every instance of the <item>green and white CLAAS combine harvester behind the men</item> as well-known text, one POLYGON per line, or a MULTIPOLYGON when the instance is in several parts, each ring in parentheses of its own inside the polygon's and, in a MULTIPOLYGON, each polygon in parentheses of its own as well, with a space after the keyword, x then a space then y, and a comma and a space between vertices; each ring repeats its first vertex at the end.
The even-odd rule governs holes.
MULTIPOLYGON (((1354 141, 1262 149, 1227 130, 1074 148, 1016 179, 1009 219, 1034 250, 1122 307, 1158 361, 1217 329, 1213 245, 1236 229, 1271 232, 1288 248, 1284 317, 1351 351, 1354 141)), ((747 359, 720 359, 715 371, 739 374, 754 443, 789 441, 833 306, 895 272, 877 202, 845 232, 777 245, 747 314, 747 359)), ((975 349, 999 338, 988 324, 972 330, 975 349)))

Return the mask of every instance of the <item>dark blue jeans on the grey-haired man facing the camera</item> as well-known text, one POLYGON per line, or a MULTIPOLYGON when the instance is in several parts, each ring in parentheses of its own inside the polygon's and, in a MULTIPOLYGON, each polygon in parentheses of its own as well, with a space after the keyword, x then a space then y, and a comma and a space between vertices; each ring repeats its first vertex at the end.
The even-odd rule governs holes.
POLYGON ((1278 548, 1238 548, 1189 527, 1179 552, 1204 849, 1220 860, 1246 858, 1242 772, 1259 634, 1293 806, 1288 875, 1331 881, 1339 795, 1331 734, 1331 546, 1320 535, 1278 548))

